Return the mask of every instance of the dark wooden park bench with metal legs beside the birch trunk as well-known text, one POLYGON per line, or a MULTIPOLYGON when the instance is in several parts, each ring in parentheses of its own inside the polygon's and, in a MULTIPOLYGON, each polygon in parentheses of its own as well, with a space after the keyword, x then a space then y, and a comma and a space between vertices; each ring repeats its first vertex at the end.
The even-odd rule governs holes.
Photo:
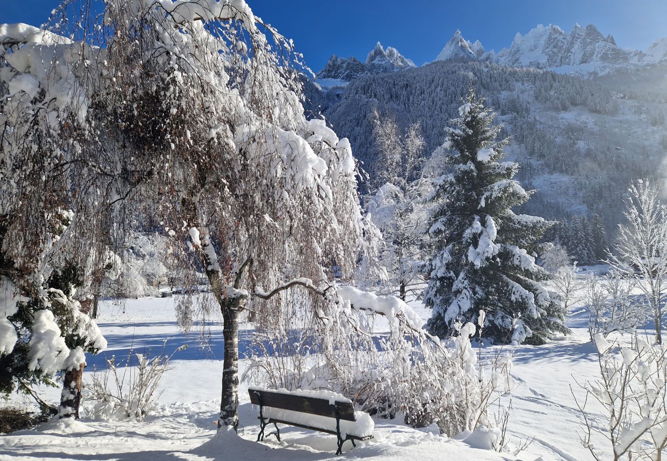
MULTIPOLYGON (((352 402, 338 402, 336 400, 327 399, 327 398, 318 398, 313 396, 303 395, 297 392, 290 393, 280 391, 275 392, 271 390, 258 389, 258 388, 249 388, 248 393, 250 394, 250 402, 253 405, 259 406, 259 434, 257 435, 257 442, 264 440, 264 428, 269 424, 275 426, 275 432, 266 434, 266 436, 275 435, 278 442, 280 441, 280 430, 278 429, 278 423, 287 424, 289 426, 295 426, 303 429, 317 430, 319 432, 325 432, 327 434, 332 434, 338 437, 338 450, 336 454, 341 454, 343 449, 343 444, 346 440, 352 441, 352 446, 357 446, 354 442, 355 440, 369 440, 373 438, 372 435, 356 436, 353 434, 343 434, 341 431, 341 421, 351 421, 356 422, 356 414, 354 412, 354 406, 352 402), (265 408, 277 408, 279 410, 287 410, 289 412, 305 413, 312 414, 315 416, 321 416, 324 418, 336 419, 336 430, 329 430, 321 427, 313 427, 307 424, 303 424, 299 421, 289 420, 289 417, 283 418, 274 418, 270 416, 265 417, 265 408)), ((270 410, 269 410, 270 412, 270 410)), ((370 416, 369 416, 370 418, 370 416)), ((307 418, 306 418, 307 419, 307 418)))

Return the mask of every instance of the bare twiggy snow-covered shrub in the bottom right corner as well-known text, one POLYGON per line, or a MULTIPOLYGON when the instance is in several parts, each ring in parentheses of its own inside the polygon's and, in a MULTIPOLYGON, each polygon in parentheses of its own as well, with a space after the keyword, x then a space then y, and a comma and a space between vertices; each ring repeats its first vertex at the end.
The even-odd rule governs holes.
POLYGON ((592 442, 598 433, 608 440, 615 461, 660 460, 667 448, 667 348, 638 334, 623 346, 597 333, 594 344, 600 377, 579 383, 586 398, 575 398, 584 423, 582 444, 596 460, 609 459, 592 442), (602 423, 587 410, 588 400, 604 408, 602 423))

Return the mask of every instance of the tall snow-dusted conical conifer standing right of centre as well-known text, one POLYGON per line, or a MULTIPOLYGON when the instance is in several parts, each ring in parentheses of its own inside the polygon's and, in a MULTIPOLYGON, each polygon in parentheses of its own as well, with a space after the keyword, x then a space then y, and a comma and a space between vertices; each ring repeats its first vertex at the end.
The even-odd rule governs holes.
POLYGON ((496 140, 501 127, 492 125, 484 99, 471 89, 459 113, 436 151, 450 170, 434 181, 431 198, 428 326, 440 336, 455 334, 458 322, 476 322, 484 311, 486 336, 541 344, 568 332, 562 309, 541 284, 549 274, 534 257, 550 223, 512 211, 530 193, 513 179, 518 164, 498 162, 508 139, 496 140))

